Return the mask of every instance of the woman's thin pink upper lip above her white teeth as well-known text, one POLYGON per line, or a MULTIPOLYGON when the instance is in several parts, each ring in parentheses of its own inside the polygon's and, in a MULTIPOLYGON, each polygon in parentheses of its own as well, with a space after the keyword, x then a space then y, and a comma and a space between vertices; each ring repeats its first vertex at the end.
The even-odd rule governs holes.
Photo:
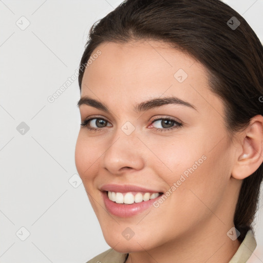
POLYGON ((111 191, 116 193, 127 192, 145 192, 145 193, 161 193, 158 190, 146 189, 145 187, 133 185, 133 184, 104 184, 101 191, 111 191))

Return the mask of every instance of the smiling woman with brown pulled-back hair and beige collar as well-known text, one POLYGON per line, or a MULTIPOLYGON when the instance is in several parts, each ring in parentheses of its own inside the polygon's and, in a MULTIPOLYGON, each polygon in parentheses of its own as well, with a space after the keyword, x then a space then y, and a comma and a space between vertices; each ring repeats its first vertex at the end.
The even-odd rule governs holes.
POLYGON ((81 59, 76 166, 112 248, 88 262, 246 262, 263 48, 219 0, 128 0, 81 59))

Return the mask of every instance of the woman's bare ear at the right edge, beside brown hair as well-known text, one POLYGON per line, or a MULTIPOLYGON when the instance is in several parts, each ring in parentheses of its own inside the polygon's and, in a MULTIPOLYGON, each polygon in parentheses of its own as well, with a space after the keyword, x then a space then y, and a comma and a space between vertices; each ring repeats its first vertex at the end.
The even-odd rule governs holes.
POLYGON ((254 116, 249 126, 240 133, 232 177, 245 179, 252 175, 263 161, 263 116, 254 116))

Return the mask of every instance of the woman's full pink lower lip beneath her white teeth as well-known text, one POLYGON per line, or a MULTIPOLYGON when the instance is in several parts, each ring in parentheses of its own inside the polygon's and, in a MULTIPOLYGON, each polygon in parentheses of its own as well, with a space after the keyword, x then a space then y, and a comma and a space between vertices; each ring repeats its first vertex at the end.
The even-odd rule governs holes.
POLYGON ((142 213, 143 211, 151 207, 153 203, 162 196, 159 195, 154 199, 148 201, 142 201, 140 203, 123 204, 109 200, 108 194, 105 191, 102 192, 102 195, 103 195, 104 204, 108 212, 111 213, 112 215, 123 217, 123 218, 142 213))

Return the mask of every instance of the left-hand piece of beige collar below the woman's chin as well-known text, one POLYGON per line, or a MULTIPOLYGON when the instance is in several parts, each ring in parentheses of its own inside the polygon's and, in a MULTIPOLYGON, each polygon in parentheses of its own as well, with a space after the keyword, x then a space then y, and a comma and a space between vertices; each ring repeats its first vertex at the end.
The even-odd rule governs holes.
POLYGON ((119 253, 114 249, 108 249, 86 263, 124 263, 126 256, 126 253, 119 253))

